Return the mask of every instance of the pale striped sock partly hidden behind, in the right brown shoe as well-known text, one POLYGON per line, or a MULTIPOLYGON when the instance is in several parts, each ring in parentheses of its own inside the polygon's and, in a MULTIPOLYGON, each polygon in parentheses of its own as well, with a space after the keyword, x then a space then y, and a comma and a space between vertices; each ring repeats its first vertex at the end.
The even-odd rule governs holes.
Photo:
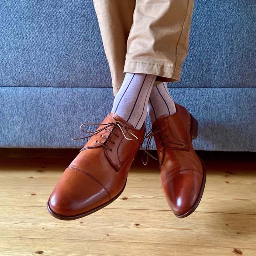
POLYGON ((147 107, 152 124, 160 116, 164 114, 170 116, 176 112, 174 101, 168 92, 167 83, 155 82, 155 84, 157 85, 153 86, 147 107))

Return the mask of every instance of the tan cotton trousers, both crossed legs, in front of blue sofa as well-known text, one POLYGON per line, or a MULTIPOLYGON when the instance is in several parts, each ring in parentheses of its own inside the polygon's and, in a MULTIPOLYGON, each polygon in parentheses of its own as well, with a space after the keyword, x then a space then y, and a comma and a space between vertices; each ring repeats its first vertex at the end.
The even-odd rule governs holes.
POLYGON ((93 0, 114 96, 125 72, 180 80, 194 0, 93 0))

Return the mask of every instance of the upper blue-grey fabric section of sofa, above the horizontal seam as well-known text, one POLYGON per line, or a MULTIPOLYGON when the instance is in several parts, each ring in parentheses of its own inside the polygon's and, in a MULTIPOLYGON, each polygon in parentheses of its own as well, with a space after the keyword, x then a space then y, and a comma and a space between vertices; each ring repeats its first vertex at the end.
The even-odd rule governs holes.
MULTIPOLYGON (((92 0, 2 1, 0 86, 112 87, 92 0)), ((169 87, 255 87, 256 5, 196 0, 189 53, 169 87)))

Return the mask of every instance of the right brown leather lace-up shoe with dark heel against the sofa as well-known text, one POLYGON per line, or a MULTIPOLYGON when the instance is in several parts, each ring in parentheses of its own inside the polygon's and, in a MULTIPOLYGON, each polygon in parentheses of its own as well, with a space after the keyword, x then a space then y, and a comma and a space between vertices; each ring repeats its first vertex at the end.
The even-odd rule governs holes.
POLYGON ((204 191, 206 172, 196 155, 192 139, 197 137, 196 119, 175 103, 173 115, 160 116, 152 125, 159 158, 162 189, 172 212, 184 218, 195 211, 204 191))

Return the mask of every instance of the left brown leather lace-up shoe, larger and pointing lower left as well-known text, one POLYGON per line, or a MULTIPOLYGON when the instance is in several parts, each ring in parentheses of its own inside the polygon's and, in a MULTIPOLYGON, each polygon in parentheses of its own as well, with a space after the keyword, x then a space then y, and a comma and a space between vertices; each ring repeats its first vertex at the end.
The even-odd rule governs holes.
POLYGON ((114 113, 97 124, 95 132, 84 131, 85 124, 80 129, 92 137, 62 173, 47 202, 48 212, 60 220, 89 215, 121 195, 146 131, 145 122, 136 130, 114 113))

